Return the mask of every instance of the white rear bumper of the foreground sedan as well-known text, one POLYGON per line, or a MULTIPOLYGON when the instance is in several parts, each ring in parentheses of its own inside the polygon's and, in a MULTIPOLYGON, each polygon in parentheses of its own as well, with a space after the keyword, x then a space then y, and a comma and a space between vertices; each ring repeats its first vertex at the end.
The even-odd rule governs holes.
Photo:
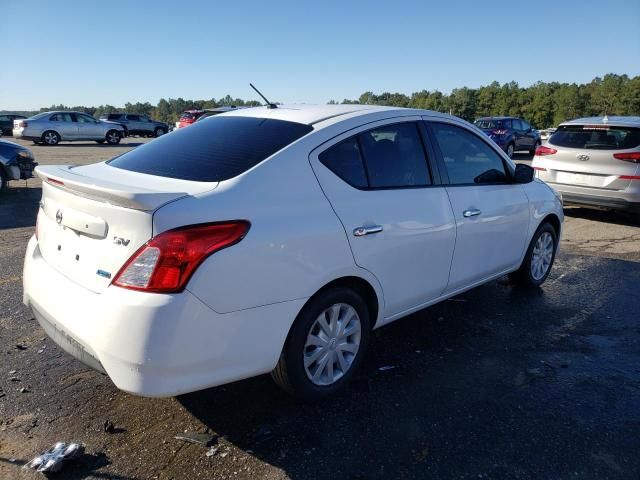
POLYGON ((91 292, 53 269, 29 241, 24 298, 65 351, 121 390, 165 397, 271 371, 304 300, 218 314, 188 291, 91 292))

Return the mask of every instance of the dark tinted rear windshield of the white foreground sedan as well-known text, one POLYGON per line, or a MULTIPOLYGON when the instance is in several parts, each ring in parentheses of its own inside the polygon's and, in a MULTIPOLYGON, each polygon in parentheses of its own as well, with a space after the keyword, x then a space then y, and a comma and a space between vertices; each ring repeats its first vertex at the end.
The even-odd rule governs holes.
POLYGON ((302 123, 216 115, 107 163, 160 177, 221 182, 246 172, 311 130, 302 123))

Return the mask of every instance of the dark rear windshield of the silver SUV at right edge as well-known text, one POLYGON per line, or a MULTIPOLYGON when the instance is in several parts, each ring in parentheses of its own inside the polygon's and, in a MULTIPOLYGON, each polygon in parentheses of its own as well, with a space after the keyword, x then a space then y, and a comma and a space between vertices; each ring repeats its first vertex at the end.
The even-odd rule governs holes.
POLYGON ((558 147, 626 150, 640 145, 640 128, 609 125, 563 125, 549 143, 558 147))

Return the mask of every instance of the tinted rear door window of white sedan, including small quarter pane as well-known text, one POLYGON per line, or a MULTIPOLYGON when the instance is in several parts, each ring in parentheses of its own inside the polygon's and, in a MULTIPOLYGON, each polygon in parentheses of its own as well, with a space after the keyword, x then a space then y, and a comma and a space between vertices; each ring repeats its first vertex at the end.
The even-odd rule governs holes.
POLYGON ((356 188, 403 188, 431 184, 415 123, 380 127, 343 140, 322 152, 320 161, 356 188))

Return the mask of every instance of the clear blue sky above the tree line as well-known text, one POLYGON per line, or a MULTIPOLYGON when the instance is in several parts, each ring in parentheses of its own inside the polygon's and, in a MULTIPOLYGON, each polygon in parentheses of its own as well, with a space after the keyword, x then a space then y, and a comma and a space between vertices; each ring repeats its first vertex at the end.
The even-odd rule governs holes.
POLYGON ((0 0, 0 110, 640 74, 640 1, 0 0))

